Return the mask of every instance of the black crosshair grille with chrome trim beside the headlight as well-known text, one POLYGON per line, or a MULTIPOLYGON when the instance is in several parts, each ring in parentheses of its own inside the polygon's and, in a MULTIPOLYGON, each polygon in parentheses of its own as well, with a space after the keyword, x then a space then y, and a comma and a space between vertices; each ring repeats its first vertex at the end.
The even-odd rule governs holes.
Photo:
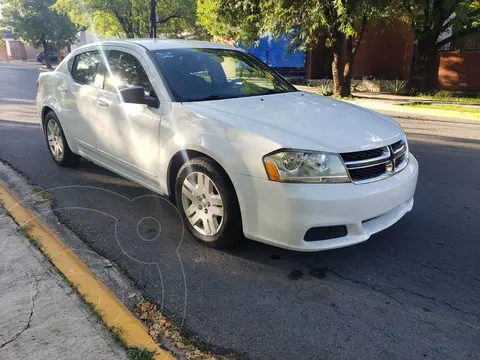
POLYGON ((408 163, 408 147, 404 139, 381 148, 341 155, 355 184, 390 177, 403 170, 408 163))

